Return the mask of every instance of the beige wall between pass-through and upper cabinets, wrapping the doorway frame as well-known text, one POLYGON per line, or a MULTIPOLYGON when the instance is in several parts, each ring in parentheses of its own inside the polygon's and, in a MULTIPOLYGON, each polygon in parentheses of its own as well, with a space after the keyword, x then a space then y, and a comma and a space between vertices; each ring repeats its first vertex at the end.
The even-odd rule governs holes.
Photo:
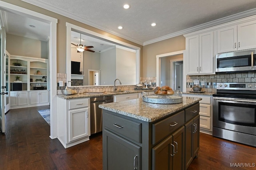
POLYGON ((156 55, 186 49, 183 35, 145 45, 143 47, 143 70, 141 77, 156 77, 156 55))

